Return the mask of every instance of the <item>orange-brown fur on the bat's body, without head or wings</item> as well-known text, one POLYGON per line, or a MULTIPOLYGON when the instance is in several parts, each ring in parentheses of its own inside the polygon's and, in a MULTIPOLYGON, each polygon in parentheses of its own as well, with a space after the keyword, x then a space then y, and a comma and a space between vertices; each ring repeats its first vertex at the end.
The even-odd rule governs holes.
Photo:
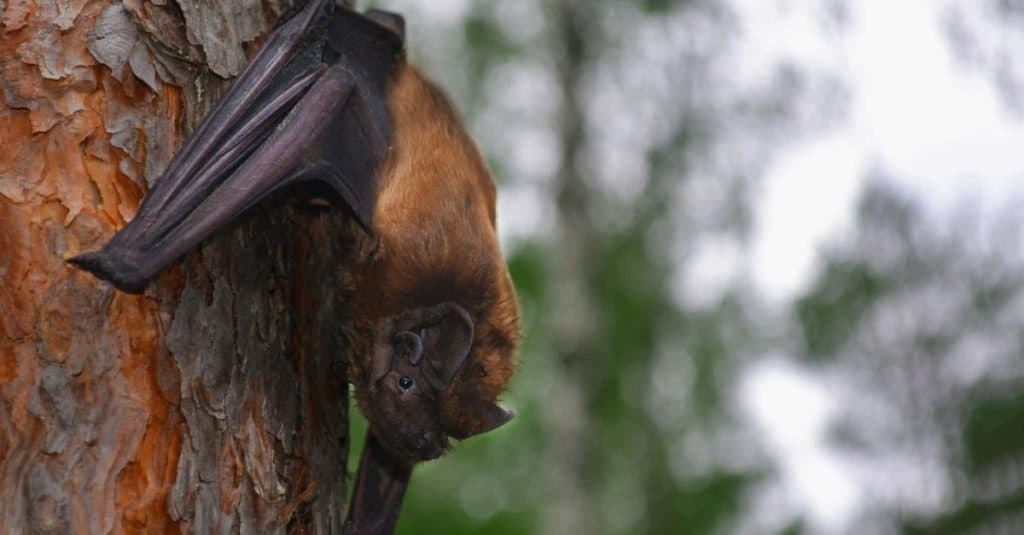
MULTIPOLYGON (((414 67, 392 81, 393 149, 381 170, 373 234, 377 254, 359 266, 351 317, 353 355, 379 326, 407 311, 454 301, 469 312, 469 359, 439 400, 449 421, 473 429, 472 408, 494 402, 514 372, 518 307, 495 229, 495 184, 444 94, 414 67)), ((369 365, 352 363, 368 412, 369 365)))

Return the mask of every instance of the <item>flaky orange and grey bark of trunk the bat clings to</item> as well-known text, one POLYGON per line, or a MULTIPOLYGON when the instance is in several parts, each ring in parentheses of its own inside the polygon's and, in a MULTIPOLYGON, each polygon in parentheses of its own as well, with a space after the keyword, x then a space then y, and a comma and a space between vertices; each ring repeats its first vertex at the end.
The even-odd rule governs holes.
POLYGON ((0 533, 340 532, 350 222, 279 196, 141 296, 63 261, 286 2, 0 0, 0 533))

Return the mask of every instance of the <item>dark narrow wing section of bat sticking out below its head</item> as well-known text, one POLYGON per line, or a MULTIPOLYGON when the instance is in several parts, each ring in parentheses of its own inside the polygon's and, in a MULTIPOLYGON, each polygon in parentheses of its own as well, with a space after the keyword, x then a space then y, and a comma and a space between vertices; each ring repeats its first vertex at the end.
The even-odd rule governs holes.
POLYGON ((398 522, 412 466, 389 455, 373 434, 367 435, 348 506, 344 535, 388 535, 398 522))

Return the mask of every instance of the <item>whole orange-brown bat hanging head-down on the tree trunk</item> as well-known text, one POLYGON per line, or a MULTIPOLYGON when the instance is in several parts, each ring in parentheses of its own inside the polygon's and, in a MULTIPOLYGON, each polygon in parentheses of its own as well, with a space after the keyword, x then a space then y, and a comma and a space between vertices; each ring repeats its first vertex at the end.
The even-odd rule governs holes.
POLYGON ((354 282, 349 380, 370 422, 347 533, 389 532, 412 467, 512 418, 515 290, 496 188, 403 22, 310 0, 288 16, 100 250, 69 261, 127 292, 268 195, 326 184, 373 254, 354 282))

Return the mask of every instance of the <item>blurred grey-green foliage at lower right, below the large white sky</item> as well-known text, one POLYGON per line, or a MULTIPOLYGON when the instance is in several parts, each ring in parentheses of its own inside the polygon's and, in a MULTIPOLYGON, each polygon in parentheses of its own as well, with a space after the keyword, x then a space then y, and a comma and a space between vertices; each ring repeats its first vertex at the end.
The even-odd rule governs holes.
POLYGON ((836 442, 908 533, 1020 529, 1024 504, 1021 220, 935 222, 876 184, 857 231, 795 306, 811 361, 847 383, 836 442))

